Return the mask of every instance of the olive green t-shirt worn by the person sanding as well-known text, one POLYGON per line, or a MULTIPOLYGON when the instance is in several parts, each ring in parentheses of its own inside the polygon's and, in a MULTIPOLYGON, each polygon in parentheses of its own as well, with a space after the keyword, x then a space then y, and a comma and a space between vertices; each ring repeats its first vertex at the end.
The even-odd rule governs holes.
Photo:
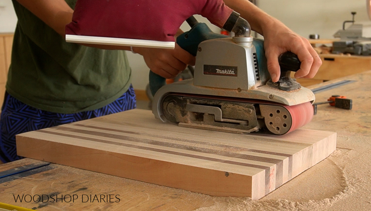
MULTIPOLYGON (((76 0, 66 2, 75 7, 76 0)), ((18 23, 6 83, 10 95, 37 109, 76 113, 108 105, 127 91, 125 51, 67 43, 16 0, 13 5, 18 23)))

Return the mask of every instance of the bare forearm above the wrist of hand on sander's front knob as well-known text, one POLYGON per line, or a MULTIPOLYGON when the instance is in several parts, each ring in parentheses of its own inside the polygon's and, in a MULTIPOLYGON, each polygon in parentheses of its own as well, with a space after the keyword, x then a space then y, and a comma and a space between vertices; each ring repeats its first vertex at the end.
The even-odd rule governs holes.
POLYGON ((248 0, 223 0, 227 6, 232 8, 237 13, 240 13, 241 17, 250 23, 251 29, 255 32, 264 35, 264 27, 269 27, 273 22, 278 20, 269 16, 263 10, 256 7, 253 3, 248 0))

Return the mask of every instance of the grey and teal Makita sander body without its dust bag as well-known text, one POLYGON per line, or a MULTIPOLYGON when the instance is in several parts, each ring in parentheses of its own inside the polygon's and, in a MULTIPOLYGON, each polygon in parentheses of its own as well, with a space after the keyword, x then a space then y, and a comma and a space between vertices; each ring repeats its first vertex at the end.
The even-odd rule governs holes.
POLYGON ((190 17, 191 30, 177 43, 196 56, 194 78, 165 85, 150 72, 152 112, 164 122, 232 133, 283 135, 313 117, 313 92, 290 78, 300 68, 298 57, 279 56, 281 76, 273 83, 263 40, 251 37, 246 20, 233 12, 224 29, 233 37, 211 32, 190 17))

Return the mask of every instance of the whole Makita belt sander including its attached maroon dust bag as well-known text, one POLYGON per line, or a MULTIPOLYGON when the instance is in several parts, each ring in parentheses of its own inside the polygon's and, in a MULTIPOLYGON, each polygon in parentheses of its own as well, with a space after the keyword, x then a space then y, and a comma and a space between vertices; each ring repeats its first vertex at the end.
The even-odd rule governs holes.
POLYGON ((273 83, 263 41, 253 39, 249 23, 222 0, 78 0, 66 41, 173 48, 186 19, 192 28, 176 42, 197 55, 194 78, 165 85, 150 72, 156 118, 193 128, 278 135, 311 121, 314 95, 289 76, 300 67, 296 55, 279 57, 281 78, 273 83), (234 37, 211 32, 194 14, 234 37))

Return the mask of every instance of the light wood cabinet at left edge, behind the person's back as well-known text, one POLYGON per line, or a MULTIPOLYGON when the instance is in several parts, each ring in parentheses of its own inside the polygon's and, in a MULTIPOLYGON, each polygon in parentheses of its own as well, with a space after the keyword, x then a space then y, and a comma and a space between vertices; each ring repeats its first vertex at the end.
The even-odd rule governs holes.
POLYGON ((5 84, 12 55, 13 34, 0 34, 0 106, 3 105, 5 84))

